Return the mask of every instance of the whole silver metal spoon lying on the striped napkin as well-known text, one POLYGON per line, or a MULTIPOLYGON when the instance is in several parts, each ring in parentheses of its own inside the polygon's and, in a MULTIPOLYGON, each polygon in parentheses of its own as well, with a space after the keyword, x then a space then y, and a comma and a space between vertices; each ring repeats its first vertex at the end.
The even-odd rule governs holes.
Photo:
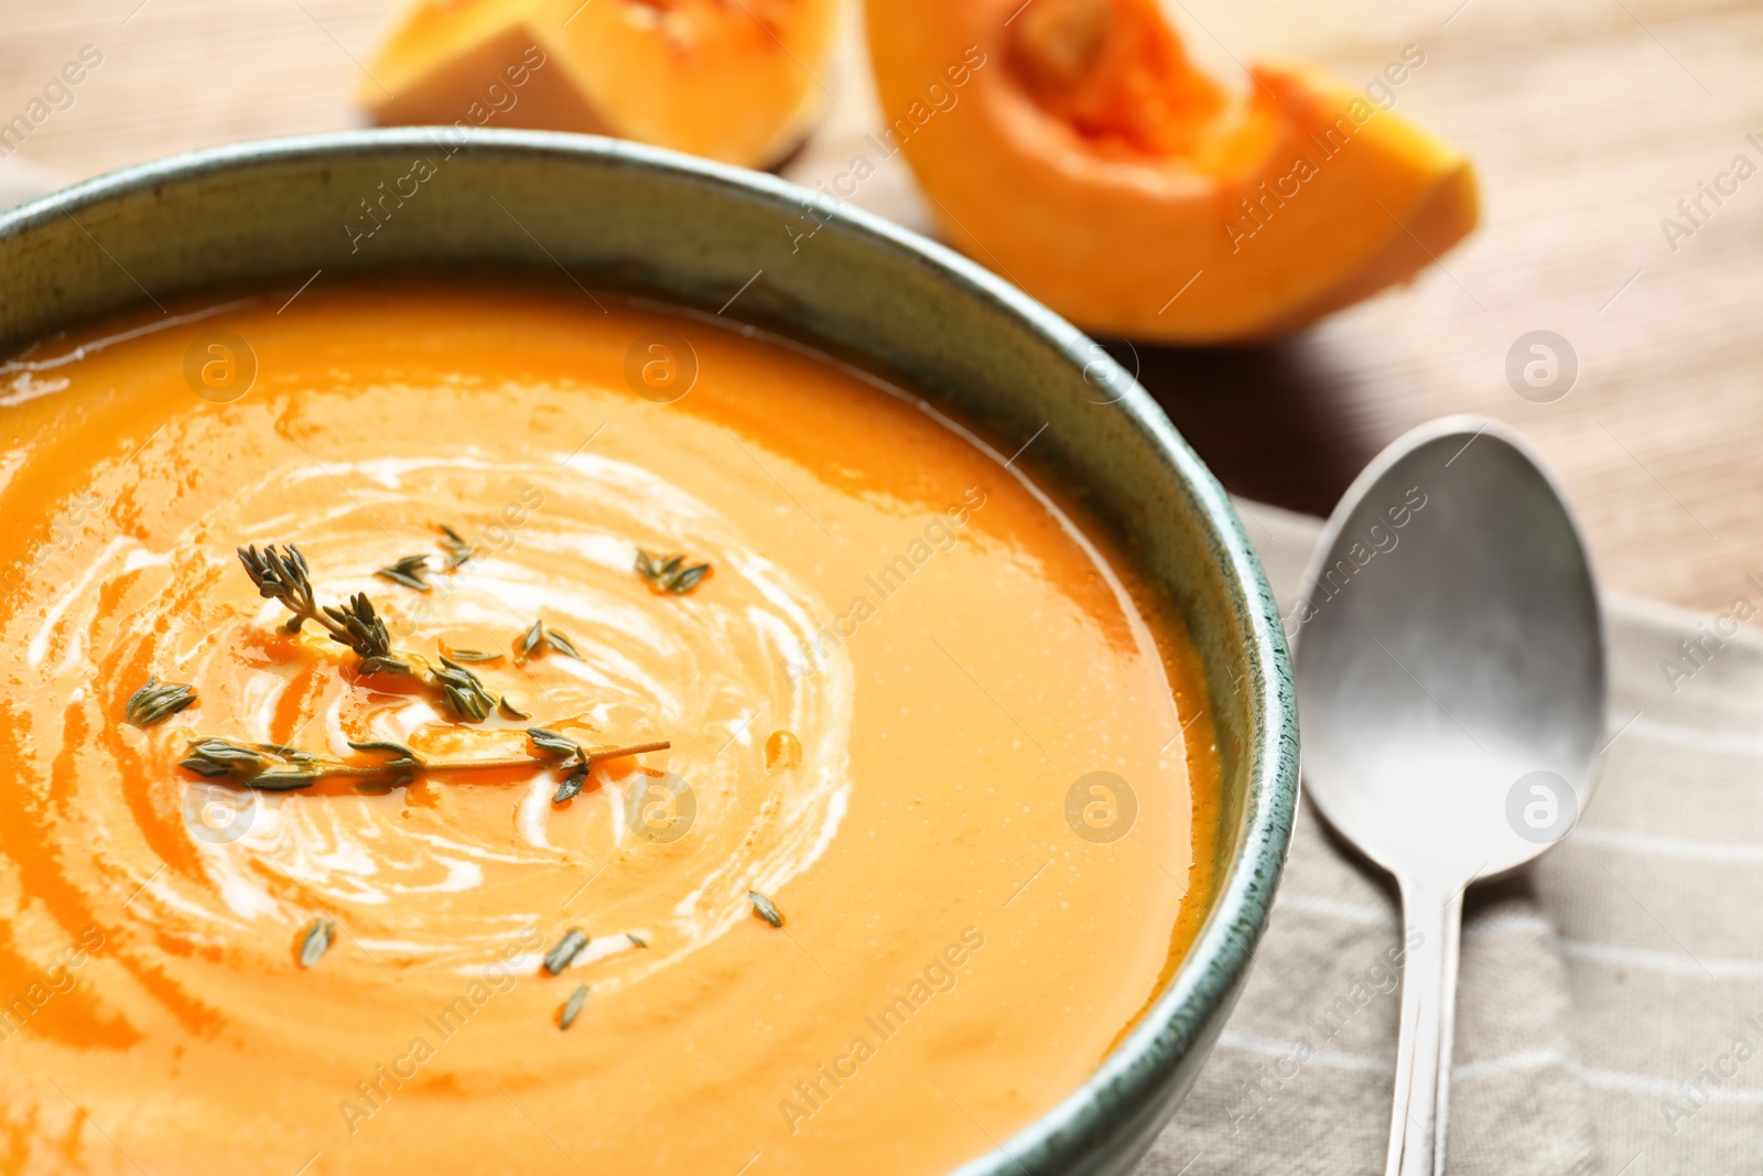
POLYGON ((1555 480, 1446 418, 1347 490, 1292 621, 1305 790, 1402 889, 1386 1176, 1442 1176, 1463 889, 1574 823, 1604 728, 1604 624, 1555 480), (1417 934, 1416 934, 1417 933, 1417 934))

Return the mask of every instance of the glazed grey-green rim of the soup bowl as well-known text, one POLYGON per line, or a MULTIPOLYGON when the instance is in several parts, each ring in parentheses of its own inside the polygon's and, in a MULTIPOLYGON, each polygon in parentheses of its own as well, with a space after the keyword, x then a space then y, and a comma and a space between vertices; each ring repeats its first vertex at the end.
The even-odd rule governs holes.
MULTIPOLYGON (((153 192, 162 183, 388 148, 434 148, 441 145, 441 130, 330 130, 229 143, 132 164, 0 212, 0 250, 12 238, 58 217, 65 215, 79 224, 74 212, 153 192)), ((1100 344, 1003 277, 878 213, 770 173, 605 136, 472 127, 465 129, 464 139, 455 146, 472 153, 564 155, 589 166, 672 173, 737 199, 763 201, 790 215, 811 203, 818 215, 827 217, 827 226, 910 257, 961 293, 1015 317, 1079 370, 1098 372, 1107 388, 1123 390, 1116 404, 1128 423, 1186 483, 1206 545, 1224 564, 1227 584, 1236 589, 1227 594, 1234 610, 1231 622, 1246 649, 1250 737, 1243 746, 1243 770, 1248 779, 1236 853, 1213 887, 1211 908, 1199 933, 1167 987, 1139 1016, 1137 1024, 1065 1098, 1007 1141, 994 1141, 993 1150, 961 1164, 950 1176, 1008 1176, 1026 1172, 1026 1165, 1037 1171, 1091 1171, 1098 1153, 1121 1144, 1130 1148, 1130 1141, 1109 1137, 1142 1121, 1148 1113, 1162 1125, 1157 1104, 1167 1076, 1190 1053, 1197 1051, 1204 1058, 1231 1012, 1273 908, 1298 808, 1298 709, 1283 621, 1224 487, 1137 377, 1127 374, 1100 344)))

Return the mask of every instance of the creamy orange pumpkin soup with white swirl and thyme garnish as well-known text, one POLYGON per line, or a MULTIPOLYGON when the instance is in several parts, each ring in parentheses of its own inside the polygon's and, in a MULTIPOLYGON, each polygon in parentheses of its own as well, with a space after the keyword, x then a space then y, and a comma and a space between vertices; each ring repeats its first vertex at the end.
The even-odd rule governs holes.
POLYGON ((934 1176, 1072 1093, 1216 763, 1028 437, 328 282, 0 368, 0 1167, 934 1176))

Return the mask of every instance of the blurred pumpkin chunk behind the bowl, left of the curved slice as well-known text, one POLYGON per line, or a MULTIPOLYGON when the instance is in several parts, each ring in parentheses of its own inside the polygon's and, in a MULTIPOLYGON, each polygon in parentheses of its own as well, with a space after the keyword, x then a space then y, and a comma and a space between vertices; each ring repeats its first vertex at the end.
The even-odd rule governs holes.
POLYGON ((822 109, 836 11, 837 0, 420 0, 358 99, 379 123, 584 130, 767 166, 822 109))

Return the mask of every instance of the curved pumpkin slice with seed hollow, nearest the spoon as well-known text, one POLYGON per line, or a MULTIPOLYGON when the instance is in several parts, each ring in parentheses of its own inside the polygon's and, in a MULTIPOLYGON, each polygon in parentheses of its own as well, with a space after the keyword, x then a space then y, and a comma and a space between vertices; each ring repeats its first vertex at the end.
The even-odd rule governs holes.
POLYGON ((1462 152, 1319 65, 1229 93, 1155 0, 869 0, 867 33, 947 236, 1095 331, 1278 335, 1476 226, 1462 152))

